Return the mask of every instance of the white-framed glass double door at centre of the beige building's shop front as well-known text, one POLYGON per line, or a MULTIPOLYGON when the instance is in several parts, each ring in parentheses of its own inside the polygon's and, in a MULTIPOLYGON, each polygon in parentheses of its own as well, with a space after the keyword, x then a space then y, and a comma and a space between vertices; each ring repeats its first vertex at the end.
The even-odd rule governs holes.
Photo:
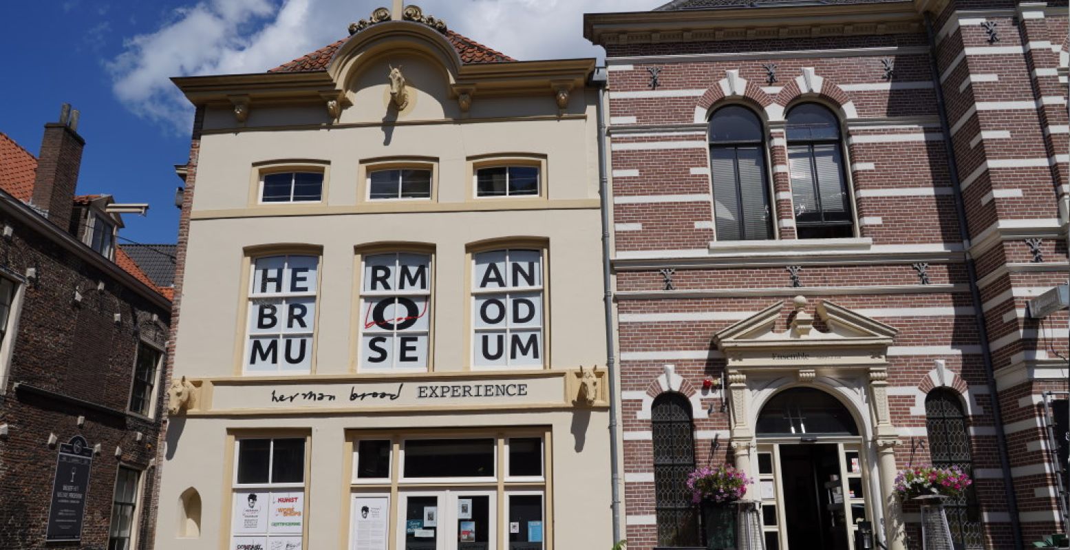
POLYGON ((496 491, 402 492, 403 550, 494 550, 496 491))

